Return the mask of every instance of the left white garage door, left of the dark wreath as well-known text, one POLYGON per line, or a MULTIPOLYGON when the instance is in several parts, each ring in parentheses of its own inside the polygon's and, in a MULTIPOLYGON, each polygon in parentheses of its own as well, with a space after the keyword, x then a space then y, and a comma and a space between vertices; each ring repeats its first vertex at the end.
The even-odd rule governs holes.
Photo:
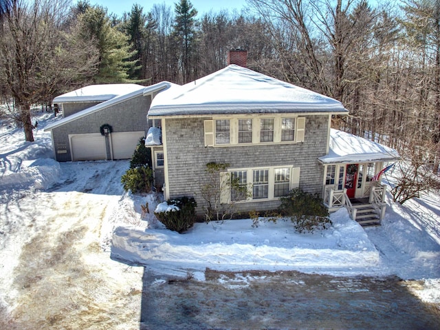
POLYGON ((72 161, 98 161, 107 159, 105 138, 100 133, 70 136, 72 161))

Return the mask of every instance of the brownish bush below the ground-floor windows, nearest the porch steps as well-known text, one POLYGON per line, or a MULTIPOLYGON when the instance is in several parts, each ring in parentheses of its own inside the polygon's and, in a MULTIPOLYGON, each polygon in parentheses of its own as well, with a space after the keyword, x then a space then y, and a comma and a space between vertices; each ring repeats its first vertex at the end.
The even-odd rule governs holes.
POLYGON ((299 233, 313 233, 316 229, 327 229, 331 225, 329 211, 318 194, 309 194, 293 189, 289 196, 281 198, 279 212, 288 216, 299 233))

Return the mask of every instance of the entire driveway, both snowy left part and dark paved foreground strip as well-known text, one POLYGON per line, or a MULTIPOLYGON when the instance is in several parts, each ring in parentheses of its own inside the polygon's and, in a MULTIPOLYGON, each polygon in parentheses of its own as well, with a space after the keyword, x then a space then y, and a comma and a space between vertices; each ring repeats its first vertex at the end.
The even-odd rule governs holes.
POLYGON ((115 262, 106 242, 128 162, 60 166, 51 189, 2 196, 0 329, 440 327, 439 309, 408 290, 423 282, 209 270, 200 281, 115 262))

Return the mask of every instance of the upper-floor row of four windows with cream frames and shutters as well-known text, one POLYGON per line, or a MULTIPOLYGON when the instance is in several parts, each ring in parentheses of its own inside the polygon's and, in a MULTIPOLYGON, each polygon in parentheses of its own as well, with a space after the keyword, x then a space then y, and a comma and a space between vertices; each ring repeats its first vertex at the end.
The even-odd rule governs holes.
POLYGON ((214 118, 204 121, 205 146, 227 147, 304 141, 305 117, 255 115, 252 118, 214 118))

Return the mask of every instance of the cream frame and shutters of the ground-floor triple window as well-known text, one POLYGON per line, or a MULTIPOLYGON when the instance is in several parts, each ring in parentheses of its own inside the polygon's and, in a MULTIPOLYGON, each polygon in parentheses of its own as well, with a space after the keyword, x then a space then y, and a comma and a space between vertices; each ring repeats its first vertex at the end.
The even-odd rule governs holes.
POLYGON ((289 191, 299 187, 300 184, 300 167, 294 167, 293 165, 281 165, 281 166, 271 166, 271 167, 245 167, 245 168, 231 168, 228 172, 221 173, 221 180, 230 180, 232 177, 232 172, 247 172, 247 186, 248 186, 248 196, 243 200, 232 200, 231 201, 231 190, 232 187, 223 185, 223 187, 228 187, 227 192, 222 191, 221 193, 221 203, 250 203, 268 200, 279 200, 283 196, 275 197, 275 170, 276 169, 289 169, 289 191), (257 170, 268 170, 268 192, 267 198, 254 198, 253 196, 253 181, 254 181, 254 171, 257 170))

